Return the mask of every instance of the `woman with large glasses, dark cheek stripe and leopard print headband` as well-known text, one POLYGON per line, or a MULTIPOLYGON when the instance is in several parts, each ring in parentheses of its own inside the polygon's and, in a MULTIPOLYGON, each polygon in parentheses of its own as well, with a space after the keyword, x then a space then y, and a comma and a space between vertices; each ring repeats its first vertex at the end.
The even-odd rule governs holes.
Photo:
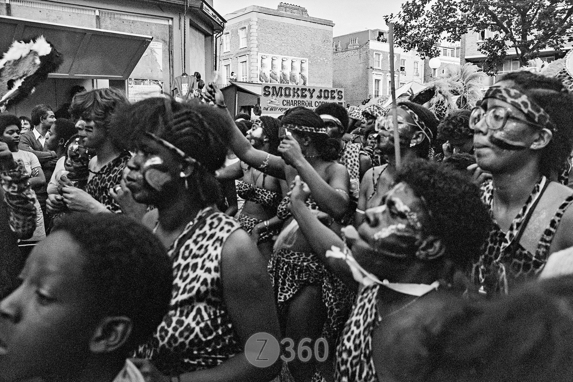
POLYGON ((572 149, 573 97, 502 82, 470 118, 476 173, 492 175, 481 187, 494 226, 473 269, 490 294, 536 278, 552 253, 573 246, 573 191, 550 180, 572 149))

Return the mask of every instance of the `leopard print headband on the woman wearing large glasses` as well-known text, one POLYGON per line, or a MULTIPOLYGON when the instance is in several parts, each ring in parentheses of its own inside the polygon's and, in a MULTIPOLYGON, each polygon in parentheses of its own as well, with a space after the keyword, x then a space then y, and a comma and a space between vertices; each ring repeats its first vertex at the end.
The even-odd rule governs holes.
POLYGON ((547 127, 553 132, 557 130, 557 127, 551 121, 551 117, 547 112, 519 90, 507 88, 505 86, 490 86, 490 88, 485 92, 483 100, 488 98, 507 102, 523 112, 529 121, 542 127, 547 127))

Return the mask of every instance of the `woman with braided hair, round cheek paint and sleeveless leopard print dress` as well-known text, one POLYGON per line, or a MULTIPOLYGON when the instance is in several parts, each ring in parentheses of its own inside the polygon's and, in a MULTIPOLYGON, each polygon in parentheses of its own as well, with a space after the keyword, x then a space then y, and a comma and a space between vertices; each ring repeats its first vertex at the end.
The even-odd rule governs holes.
POLYGON ((215 170, 227 152, 215 121, 213 107, 198 101, 151 98, 113 123, 115 140, 136 152, 127 187, 137 202, 157 207, 144 223, 173 265, 170 311, 136 352, 155 382, 262 382, 280 371, 278 362, 258 368, 245 357, 249 337, 280 338, 280 330, 266 260, 236 220, 215 207, 215 170))

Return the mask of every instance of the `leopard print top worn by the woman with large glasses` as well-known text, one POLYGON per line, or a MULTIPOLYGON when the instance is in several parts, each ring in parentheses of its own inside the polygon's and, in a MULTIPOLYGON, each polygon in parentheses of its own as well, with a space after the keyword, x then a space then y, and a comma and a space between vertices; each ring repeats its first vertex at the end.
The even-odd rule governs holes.
MULTIPOLYGON (((520 245, 519 239, 516 237, 526 220, 529 207, 535 203, 537 198, 540 198, 543 192, 541 183, 544 183, 543 178, 533 187, 527 202, 513 219, 507 233, 500 229, 492 216, 493 227, 489 233, 484 254, 474 263, 472 270, 473 282, 480 285, 484 292, 506 294, 511 284, 535 278, 543 270, 549 257, 555 232, 559 228, 563 214, 573 203, 573 196, 563 200, 543 236, 541 236, 535 253, 530 253, 520 245)), ((492 180, 482 184, 481 190, 482 202, 489 207, 491 215, 493 206, 492 180)))

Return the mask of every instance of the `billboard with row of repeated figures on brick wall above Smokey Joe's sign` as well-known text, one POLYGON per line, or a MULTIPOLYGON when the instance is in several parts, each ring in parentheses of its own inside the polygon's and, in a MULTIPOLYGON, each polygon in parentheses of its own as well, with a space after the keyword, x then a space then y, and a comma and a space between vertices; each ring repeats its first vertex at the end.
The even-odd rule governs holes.
POLYGON ((308 58, 258 54, 258 80, 270 84, 308 85, 308 58))

